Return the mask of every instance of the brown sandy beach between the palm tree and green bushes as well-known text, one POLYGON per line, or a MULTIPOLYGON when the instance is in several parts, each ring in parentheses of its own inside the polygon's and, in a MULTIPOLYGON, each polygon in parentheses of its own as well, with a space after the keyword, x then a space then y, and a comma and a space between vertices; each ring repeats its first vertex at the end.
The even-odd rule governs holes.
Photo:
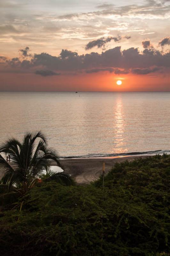
POLYGON ((102 174, 102 164, 105 162, 105 173, 108 173, 115 163, 147 156, 125 156, 115 158, 71 158, 61 160, 65 172, 71 174, 78 184, 89 184, 102 174))

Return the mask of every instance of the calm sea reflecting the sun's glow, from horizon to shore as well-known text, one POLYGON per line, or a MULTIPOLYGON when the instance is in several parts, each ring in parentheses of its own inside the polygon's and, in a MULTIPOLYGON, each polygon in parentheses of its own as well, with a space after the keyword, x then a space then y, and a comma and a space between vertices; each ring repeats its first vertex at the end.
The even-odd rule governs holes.
POLYGON ((0 92, 0 142, 41 130, 60 156, 170 149, 169 92, 0 92))

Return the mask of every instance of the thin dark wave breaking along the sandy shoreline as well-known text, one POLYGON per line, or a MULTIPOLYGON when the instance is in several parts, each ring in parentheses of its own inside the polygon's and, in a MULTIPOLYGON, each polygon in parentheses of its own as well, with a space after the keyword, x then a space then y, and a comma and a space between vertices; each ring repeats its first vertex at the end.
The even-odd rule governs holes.
POLYGON ((141 156, 141 155, 163 155, 170 154, 170 150, 154 150, 154 151, 145 151, 145 152, 130 152, 130 153, 120 153, 120 154, 88 154, 82 156, 60 156, 61 159, 69 158, 99 158, 99 157, 121 157, 121 156, 141 156))

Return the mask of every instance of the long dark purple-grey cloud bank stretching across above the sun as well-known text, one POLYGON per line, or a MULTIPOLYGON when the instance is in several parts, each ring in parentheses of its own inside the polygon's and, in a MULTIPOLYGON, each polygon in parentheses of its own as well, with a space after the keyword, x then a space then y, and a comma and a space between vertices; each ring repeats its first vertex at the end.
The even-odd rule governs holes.
POLYGON ((139 52, 131 47, 121 51, 121 47, 109 49, 102 53, 91 52, 79 55, 77 52, 62 50, 59 56, 52 56, 42 52, 34 54, 30 60, 13 58, 6 60, 10 70, 24 70, 41 76, 59 75, 60 72, 69 73, 97 73, 114 72, 115 74, 149 74, 156 72, 156 68, 170 68, 170 52, 164 53, 151 48, 139 52), (153 68, 155 67, 155 68, 153 68), (53 70, 53 71, 51 71, 53 70), (129 71, 130 70, 130 71, 129 71))

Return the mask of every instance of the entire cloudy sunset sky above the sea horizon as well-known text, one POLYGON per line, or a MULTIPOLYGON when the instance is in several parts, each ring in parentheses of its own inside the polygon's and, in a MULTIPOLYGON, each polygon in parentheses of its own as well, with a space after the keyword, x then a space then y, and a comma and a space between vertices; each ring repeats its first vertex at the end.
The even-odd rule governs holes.
POLYGON ((1 0, 0 12, 0 91, 170 91, 170 0, 1 0))

